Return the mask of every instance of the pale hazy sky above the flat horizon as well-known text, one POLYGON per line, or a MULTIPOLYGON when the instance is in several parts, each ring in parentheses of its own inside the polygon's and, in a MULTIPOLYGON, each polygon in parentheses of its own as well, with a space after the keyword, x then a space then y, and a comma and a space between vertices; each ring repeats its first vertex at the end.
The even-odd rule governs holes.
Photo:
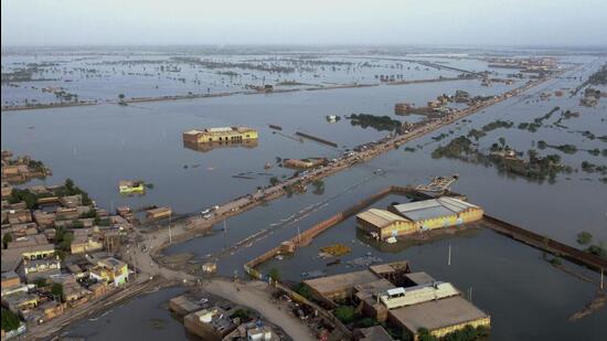
POLYGON ((2 0, 2 45, 607 45, 607 0, 2 0))

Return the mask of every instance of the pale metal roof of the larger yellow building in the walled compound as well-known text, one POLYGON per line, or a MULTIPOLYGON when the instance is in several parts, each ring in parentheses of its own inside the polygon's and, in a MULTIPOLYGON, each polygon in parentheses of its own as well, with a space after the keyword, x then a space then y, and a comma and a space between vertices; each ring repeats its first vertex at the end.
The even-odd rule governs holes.
POLYGON ((479 206, 459 199, 441 196, 438 199, 398 204, 395 205, 394 209, 412 221, 423 221, 457 214, 469 209, 479 209, 479 206))

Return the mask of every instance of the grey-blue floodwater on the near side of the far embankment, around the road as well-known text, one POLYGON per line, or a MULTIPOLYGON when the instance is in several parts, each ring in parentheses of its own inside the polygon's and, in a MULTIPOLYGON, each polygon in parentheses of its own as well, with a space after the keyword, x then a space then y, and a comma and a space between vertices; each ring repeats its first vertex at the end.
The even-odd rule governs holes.
MULTIPOLYGON (((555 145, 573 143, 584 149, 607 148, 605 142, 590 140, 579 134, 590 130, 596 136, 607 135, 604 99, 598 107, 584 108, 577 106, 579 95, 552 96, 549 100, 539 98, 542 92, 574 88, 605 63, 605 58, 587 57, 568 57, 568 61, 586 64, 584 68, 567 75, 569 78, 554 79, 522 97, 469 116, 471 122, 466 120, 454 124, 404 146, 416 148, 414 152, 405 151, 402 147, 385 153, 327 178, 322 193, 310 190, 273 201, 266 206, 230 219, 225 228, 219 224, 212 236, 172 245, 167 253, 192 252, 199 258, 217 256, 222 275, 231 276, 236 271, 242 276, 243 264, 248 259, 297 235, 298 230, 303 231, 366 195, 391 184, 417 184, 433 175, 452 173, 460 175, 452 189, 467 194, 472 203, 481 205, 491 215, 574 246, 579 231, 588 231, 597 243, 605 243, 607 185, 598 180, 599 174, 579 170, 581 162, 585 160, 597 164, 607 163, 605 157, 590 156, 583 150, 575 154, 543 150, 542 154, 561 154, 566 164, 577 169, 572 174, 558 174, 554 182, 543 183, 502 174, 492 167, 430 157, 437 146, 496 119, 511 120, 514 127, 489 132, 479 141, 481 149, 487 149, 499 137, 503 137, 519 151, 526 151, 539 140, 555 145), (519 122, 532 121, 555 106, 579 111, 581 116, 565 120, 563 124, 567 129, 553 126, 558 114, 535 134, 517 129, 519 122), (440 134, 449 136, 440 141, 433 139, 440 134), (377 173, 377 169, 383 171, 377 173), (222 253, 265 228, 268 234, 264 238, 234 252, 222 253)), ((54 175, 40 182, 52 184, 72 178, 100 206, 110 209, 129 204, 137 207, 153 203, 171 205, 177 213, 191 213, 255 191, 257 187, 268 184, 273 175, 290 175, 291 170, 276 166, 264 169, 266 162, 275 163, 277 157, 334 158, 345 148, 385 135, 372 128, 352 127, 347 119, 329 124, 324 119, 327 115, 368 113, 390 115, 403 120, 416 119, 395 116, 394 104, 414 102, 419 106, 437 95, 452 94, 456 89, 466 89, 471 95, 489 95, 514 86, 517 84, 481 87, 478 81, 457 81, 236 95, 127 107, 99 105, 3 113, 2 149, 41 159, 53 169, 54 175), (267 124, 280 125, 284 129, 281 134, 274 134, 267 124), (217 148, 202 152, 183 147, 182 131, 213 126, 252 126, 259 130, 260 138, 254 148, 217 148), (296 131, 336 141, 340 147, 336 149, 309 140, 297 141, 292 138, 296 131), (254 179, 233 178, 237 174, 254 179), (117 193, 120 179, 141 179, 153 183, 155 188, 145 196, 120 196, 117 193)), ((4 94, 4 87, 2 92, 4 94)), ((403 199, 390 196, 374 206, 383 207, 394 200, 403 199)), ((386 262, 407 259, 415 270, 425 270, 437 279, 452 281, 465 292, 471 287, 472 301, 492 317, 494 340, 597 340, 598 335, 607 332, 607 327, 601 323, 607 317, 605 309, 577 322, 567 320, 588 302, 595 287, 555 269, 542 259, 541 252, 536 249, 483 230, 397 252, 377 249, 364 237, 356 235, 354 225, 352 220, 345 221, 319 236, 312 245, 299 249, 294 257, 273 260, 264 265, 262 270, 276 267, 284 278, 300 280, 302 271, 323 269, 332 274, 350 270, 347 260, 366 253, 386 262), (354 253, 344 256, 341 265, 329 268, 324 262, 316 259, 316 255, 321 246, 337 242, 352 246, 354 253), (452 247, 451 266, 446 265, 448 245, 452 247)), ((597 277, 575 265, 566 266, 593 278, 597 277)), ((127 306, 139 311, 139 303, 136 300, 127 306)), ((141 332, 153 332, 152 327, 135 316, 125 316, 124 320, 129 321, 129 326, 140 326, 141 332)), ((104 328, 90 322, 74 328, 82 328, 84 334, 119 335, 123 323, 126 322, 111 319, 104 328)), ((180 333, 175 335, 182 338, 180 333)))

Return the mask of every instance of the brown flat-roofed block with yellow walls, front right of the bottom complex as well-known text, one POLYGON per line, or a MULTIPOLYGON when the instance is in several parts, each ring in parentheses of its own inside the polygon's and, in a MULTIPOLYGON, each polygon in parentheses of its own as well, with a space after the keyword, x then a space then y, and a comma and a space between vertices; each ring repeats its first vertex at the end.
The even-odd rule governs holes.
POLYGON ((440 338, 466 326, 489 327, 491 318, 460 296, 391 309, 388 322, 406 330, 418 340, 418 330, 425 328, 440 338))

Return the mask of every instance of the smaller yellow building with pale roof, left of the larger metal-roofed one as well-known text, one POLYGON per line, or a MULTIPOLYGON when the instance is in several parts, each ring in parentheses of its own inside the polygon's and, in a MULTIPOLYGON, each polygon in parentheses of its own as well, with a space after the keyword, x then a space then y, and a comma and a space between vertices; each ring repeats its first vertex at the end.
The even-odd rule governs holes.
POLYGON ((382 241, 416 231, 409 220, 379 209, 370 209, 356 214, 356 222, 360 228, 382 241))

